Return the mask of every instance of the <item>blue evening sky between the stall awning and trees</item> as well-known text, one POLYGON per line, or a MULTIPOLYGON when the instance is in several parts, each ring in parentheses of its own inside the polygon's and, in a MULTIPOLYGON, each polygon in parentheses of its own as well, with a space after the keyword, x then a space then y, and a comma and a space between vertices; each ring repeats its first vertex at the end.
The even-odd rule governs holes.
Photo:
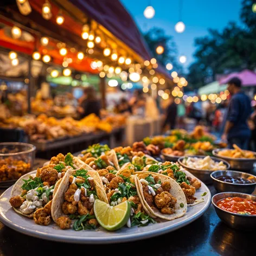
POLYGON ((222 29, 229 21, 239 22, 242 0, 183 0, 182 21, 185 31, 176 33, 174 26, 178 22, 178 0, 151 0, 156 11, 151 20, 143 16, 149 0, 120 0, 135 19, 141 31, 152 27, 163 28, 168 35, 174 36, 179 55, 187 56, 188 67, 193 62, 195 52, 194 39, 207 35, 207 29, 222 29))

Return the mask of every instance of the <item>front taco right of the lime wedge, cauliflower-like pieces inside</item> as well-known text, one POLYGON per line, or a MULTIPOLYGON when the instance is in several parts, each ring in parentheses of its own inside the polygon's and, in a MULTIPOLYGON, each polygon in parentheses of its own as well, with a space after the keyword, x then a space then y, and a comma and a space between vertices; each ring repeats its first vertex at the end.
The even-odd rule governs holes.
POLYGON ((176 181, 155 172, 135 172, 140 201, 161 219, 174 220, 187 212, 187 201, 176 181))

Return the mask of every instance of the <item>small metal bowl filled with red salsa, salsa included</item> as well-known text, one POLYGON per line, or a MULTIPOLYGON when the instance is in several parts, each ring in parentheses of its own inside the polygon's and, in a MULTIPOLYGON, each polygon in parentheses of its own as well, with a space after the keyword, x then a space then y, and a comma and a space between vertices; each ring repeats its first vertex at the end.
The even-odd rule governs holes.
POLYGON ((212 204, 217 215, 228 226, 236 229, 256 228, 256 196, 226 192, 213 196, 212 204))

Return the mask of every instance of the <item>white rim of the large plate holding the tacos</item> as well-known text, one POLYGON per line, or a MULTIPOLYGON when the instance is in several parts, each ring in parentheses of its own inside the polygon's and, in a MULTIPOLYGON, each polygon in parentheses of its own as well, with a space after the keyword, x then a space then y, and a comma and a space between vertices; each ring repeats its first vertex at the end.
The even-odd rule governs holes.
MULTIPOLYGON (((210 193, 209 188, 203 182, 202 184, 207 189, 207 193, 208 193, 208 200, 206 201, 206 204, 204 204, 203 208, 201 208, 199 212, 196 212, 194 215, 190 216, 187 220, 184 220, 181 223, 177 223, 175 226, 165 226, 161 229, 158 229, 157 231, 151 230, 144 233, 133 233, 133 234, 117 233, 117 235, 104 237, 104 238, 100 236, 90 238, 89 236, 82 236, 82 235, 80 237, 73 237, 72 235, 68 236, 68 235, 51 234, 51 233, 36 231, 34 229, 24 228, 22 227, 22 222, 20 223, 20 225, 18 225, 17 223, 10 221, 8 217, 5 216, 5 214, 3 213, 3 210, 1 209, 1 207, 0 207, 0 221, 3 222, 5 226, 11 229, 14 229, 15 231, 25 235, 33 236, 39 239, 50 240, 50 241, 68 242, 71 244, 118 244, 120 242, 144 240, 144 239, 152 238, 154 236, 176 231, 177 229, 187 226, 191 222, 199 219, 199 217, 201 217, 208 210, 212 200, 212 195, 210 193)), ((7 190, 5 190, 4 193, 1 195, 0 204, 1 204, 1 199, 3 197, 9 197, 9 196, 6 196, 6 194, 11 193, 12 187, 13 185, 7 190)), ((17 214, 17 213, 13 212, 13 214, 17 214)))

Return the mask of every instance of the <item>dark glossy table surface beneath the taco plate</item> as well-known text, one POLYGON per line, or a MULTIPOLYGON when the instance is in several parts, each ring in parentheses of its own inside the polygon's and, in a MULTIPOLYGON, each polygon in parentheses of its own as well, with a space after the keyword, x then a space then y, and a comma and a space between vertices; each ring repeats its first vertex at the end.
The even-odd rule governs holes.
MULTIPOLYGON (((36 159, 42 166, 46 160, 36 159)), ((208 186, 212 196, 216 190, 208 186)), ((4 190, 0 190, 0 194, 4 190)), ((199 219, 177 231, 143 241, 114 245, 72 245, 46 241, 18 233, 0 222, 0 256, 64 255, 75 249, 76 255, 85 252, 97 255, 248 255, 254 254, 254 232, 236 231, 221 222, 210 206, 199 219), (131 246, 131 249, 127 249, 131 246), (53 249, 54 248, 54 249, 53 249), (125 249, 124 249, 125 248, 125 249), (86 250, 86 251, 85 251, 86 250)))

